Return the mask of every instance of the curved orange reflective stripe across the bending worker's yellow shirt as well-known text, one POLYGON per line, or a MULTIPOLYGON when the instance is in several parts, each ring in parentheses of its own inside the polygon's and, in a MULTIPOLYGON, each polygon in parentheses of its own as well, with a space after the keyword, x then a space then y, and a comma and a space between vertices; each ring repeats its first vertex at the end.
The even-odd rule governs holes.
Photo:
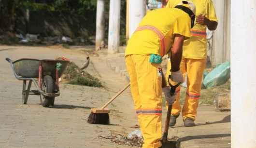
POLYGON ((138 27, 135 32, 137 31, 141 31, 141 30, 145 30, 145 29, 148 29, 148 30, 152 30, 154 31, 157 36, 159 37, 160 39, 160 48, 161 48, 161 56, 163 57, 164 54, 165 54, 165 43, 164 43, 164 35, 162 34, 161 31, 159 31, 156 27, 154 26, 150 26, 150 25, 145 25, 145 26, 141 26, 141 27, 138 27))

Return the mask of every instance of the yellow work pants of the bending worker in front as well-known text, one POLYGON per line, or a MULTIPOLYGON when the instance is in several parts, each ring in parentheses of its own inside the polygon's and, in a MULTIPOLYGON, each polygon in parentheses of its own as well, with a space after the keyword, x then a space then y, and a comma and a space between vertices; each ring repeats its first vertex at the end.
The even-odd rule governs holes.
POLYGON ((162 137, 162 69, 149 62, 149 55, 127 55, 131 94, 144 139, 142 148, 161 147, 162 137))

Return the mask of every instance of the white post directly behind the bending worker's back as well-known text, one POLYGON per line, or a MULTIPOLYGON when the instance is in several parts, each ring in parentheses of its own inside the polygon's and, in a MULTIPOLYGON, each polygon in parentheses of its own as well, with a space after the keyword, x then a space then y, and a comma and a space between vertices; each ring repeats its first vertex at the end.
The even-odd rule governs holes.
POLYGON ((146 0, 129 0, 129 37, 146 15, 146 0))

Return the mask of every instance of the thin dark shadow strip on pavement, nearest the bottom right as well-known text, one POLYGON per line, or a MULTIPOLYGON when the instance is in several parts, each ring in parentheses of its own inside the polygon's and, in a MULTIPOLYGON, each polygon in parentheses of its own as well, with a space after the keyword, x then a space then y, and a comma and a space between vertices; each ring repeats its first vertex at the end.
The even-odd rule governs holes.
POLYGON ((207 139, 207 138, 218 138, 218 137, 228 137, 231 136, 231 134, 214 134, 214 135, 194 135, 194 136, 185 136, 182 138, 179 138, 177 140, 177 148, 180 148, 180 144, 183 141, 193 140, 193 139, 207 139))

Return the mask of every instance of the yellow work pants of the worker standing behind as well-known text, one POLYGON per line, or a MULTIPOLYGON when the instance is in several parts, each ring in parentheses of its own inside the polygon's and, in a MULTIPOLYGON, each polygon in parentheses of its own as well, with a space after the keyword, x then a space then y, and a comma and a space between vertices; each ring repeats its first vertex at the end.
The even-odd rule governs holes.
MULTIPOLYGON (((187 59, 182 58, 180 69, 185 77, 185 73, 187 74, 187 89, 186 89, 186 97, 185 104, 181 109, 180 105, 180 88, 176 89, 176 100, 172 105, 171 114, 176 116, 182 111, 182 117, 185 120, 186 118, 190 118, 192 120, 196 119, 197 108, 198 108, 198 100, 200 98, 201 92, 201 82, 203 77, 203 71, 206 66, 206 59, 187 59)), ((168 76, 170 74, 171 62, 168 61, 167 65, 167 73, 166 80, 168 80, 168 76)))

